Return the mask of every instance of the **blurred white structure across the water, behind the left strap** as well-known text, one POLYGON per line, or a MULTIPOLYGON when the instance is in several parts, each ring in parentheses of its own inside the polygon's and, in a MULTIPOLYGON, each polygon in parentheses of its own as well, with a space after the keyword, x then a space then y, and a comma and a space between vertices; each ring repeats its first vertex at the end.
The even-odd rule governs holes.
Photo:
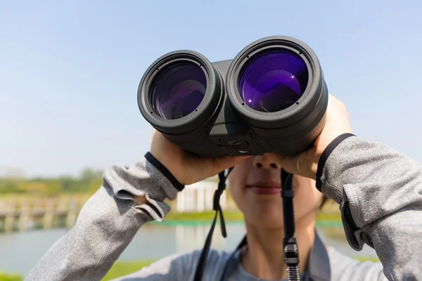
MULTIPOLYGON (((186 185, 177 195, 177 211, 212 211, 214 192, 217 190, 217 180, 207 178, 198 183, 186 185)), ((220 197, 220 206, 226 207, 226 192, 220 197)))

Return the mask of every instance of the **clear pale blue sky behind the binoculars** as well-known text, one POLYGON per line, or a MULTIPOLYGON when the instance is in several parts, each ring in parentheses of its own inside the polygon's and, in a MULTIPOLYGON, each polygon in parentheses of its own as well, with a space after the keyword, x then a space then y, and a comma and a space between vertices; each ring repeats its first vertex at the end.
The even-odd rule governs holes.
POLYGON ((181 48, 234 58, 270 35, 314 49, 357 136, 422 162, 421 1, 0 0, 0 175, 133 164, 151 144, 148 65, 181 48))

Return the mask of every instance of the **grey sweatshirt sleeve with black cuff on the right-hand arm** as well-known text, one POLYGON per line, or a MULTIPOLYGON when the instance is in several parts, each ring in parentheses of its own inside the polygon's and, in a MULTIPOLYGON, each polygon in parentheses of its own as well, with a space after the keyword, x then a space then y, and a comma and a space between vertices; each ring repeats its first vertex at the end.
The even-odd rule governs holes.
POLYGON ((422 280, 422 165, 381 143, 343 135, 321 156, 316 187, 340 204, 345 234, 376 250, 389 280, 422 280))

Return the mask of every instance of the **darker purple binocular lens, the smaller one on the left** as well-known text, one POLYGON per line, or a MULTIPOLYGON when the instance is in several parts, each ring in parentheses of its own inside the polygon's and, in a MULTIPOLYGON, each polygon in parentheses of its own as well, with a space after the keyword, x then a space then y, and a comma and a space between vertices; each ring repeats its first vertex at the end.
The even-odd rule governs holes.
POLYGON ((179 119, 196 110, 205 96, 207 77, 194 63, 166 67, 151 84, 152 105, 165 119, 179 119))

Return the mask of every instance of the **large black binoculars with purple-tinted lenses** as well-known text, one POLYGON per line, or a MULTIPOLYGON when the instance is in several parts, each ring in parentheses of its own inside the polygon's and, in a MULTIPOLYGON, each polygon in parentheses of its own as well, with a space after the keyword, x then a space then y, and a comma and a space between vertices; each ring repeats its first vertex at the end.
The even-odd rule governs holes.
POLYGON ((309 46, 267 37, 233 60, 163 55, 143 74, 138 105, 148 123, 196 155, 295 155, 321 133, 328 89, 309 46))

